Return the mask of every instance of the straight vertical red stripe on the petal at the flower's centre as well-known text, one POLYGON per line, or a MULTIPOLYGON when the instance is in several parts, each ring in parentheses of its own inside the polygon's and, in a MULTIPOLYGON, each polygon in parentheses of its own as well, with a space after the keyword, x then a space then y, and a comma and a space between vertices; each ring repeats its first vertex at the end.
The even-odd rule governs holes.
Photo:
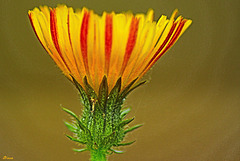
POLYGON ((109 71, 109 64, 111 58, 111 50, 112 50, 112 15, 106 15, 106 25, 105 25, 105 69, 106 73, 109 71))

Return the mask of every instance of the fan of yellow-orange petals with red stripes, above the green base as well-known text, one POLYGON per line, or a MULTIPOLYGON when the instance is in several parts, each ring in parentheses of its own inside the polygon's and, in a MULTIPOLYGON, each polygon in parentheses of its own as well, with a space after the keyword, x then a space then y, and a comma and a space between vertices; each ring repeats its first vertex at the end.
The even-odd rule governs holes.
POLYGON ((190 26, 191 20, 131 12, 102 16, 66 5, 40 6, 28 12, 42 46, 63 73, 83 86, 86 77, 97 92, 104 76, 109 89, 121 77, 123 90, 140 79, 190 26))

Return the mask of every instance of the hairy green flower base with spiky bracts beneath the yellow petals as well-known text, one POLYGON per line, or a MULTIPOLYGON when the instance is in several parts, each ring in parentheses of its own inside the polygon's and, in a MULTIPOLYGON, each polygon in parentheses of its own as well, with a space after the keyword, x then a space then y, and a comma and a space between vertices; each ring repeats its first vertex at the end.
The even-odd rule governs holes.
POLYGON ((145 83, 144 81, 133 86, 136 80, 133 80, 126 88, 120 91, 121 78, 119 78, 114 88, 109 92, 107 77, 104 76, 99 87, 99 93, 96 94, 86 77, 84 78, 84 87, 73 78, 83 104, 83 112, 81 117, 78 117, 72 111, 63 108, 65 112, 74 118, 72 123, 65 122, 67 128, 73 132, 73 136, 67 135, 67 137, 72 141, 85 145, 84 149, 74 149, 74 151, 83 152, 89 150, 92 154, 92 160, 95 160, 94 156, 101 158, 101 155, 102 158, 106 159, 106 155, 113 152, 122 153, 112 149, 113 147, 126 146, 135 142, 122 143, 128 132, 142 126, 126 126, 134 118, 125 119, 125 116, 130 112, 130 108, 122 109, 122 105, 131 91, 145 83))

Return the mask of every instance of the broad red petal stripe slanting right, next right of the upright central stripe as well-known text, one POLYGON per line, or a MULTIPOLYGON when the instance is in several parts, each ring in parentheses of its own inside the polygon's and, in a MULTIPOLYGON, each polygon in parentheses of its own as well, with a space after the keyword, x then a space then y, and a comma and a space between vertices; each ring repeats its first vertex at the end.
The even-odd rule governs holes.
POLYGON ((138 32, 138 23, 139 20, 135 17, 132 18, 132 22, 131 22, 131 26, 130 26, 130 32, 129 32, 129 37, 128 37, 128 42, 127 42, 127 46, 126 46, 126 51, 125 51, 125 55, 124 55, 124 60, 123 60, 123 64, 122 64, 122 69, 121 69, 121 73, 124 72, 126 65, 130 59, 130 56, 132 54, 133 48, 136 44, 136 40, 137 40, 137 32, 138 32))

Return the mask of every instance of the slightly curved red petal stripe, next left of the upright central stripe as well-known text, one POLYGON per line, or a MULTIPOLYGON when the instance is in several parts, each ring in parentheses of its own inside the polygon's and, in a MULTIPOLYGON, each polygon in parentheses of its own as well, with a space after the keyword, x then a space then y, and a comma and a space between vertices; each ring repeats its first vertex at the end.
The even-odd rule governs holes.
POLYGON ((87 36, 88 36, 89 17, 90 17, 90 13, 88 11, 85 11, 83 20, 82 20, 81 33, 80 33, 82 57, 83 57, 83 62, 87 72, 89 72, 88 54, 87 54, 87 36))

